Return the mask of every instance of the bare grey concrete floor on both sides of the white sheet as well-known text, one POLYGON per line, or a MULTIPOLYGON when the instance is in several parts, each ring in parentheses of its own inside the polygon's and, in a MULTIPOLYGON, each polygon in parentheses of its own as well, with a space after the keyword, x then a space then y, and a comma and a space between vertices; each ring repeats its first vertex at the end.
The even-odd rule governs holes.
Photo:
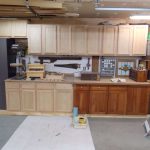
MULTIPOLYGON (((26 116, 0 116, 0 149, 26 116)), ((88 118, 96 150, 147 150, 150 137, 144 137, 146 118, 88 118)))

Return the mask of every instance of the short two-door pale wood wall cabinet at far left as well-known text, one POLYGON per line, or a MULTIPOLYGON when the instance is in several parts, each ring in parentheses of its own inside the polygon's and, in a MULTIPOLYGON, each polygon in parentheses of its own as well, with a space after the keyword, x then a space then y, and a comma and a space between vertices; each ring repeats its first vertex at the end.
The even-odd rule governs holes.
POLYGON ((0 37, 26 37, 27 21, 0 21, 0 37))

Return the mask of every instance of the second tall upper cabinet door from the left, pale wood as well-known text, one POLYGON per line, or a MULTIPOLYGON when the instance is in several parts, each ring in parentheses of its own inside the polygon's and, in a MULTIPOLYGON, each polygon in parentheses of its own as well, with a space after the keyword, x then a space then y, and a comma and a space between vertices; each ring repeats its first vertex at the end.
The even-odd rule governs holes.
POLYGON ((56 25, 42 25, 43 54, 56 54, 56 25))

